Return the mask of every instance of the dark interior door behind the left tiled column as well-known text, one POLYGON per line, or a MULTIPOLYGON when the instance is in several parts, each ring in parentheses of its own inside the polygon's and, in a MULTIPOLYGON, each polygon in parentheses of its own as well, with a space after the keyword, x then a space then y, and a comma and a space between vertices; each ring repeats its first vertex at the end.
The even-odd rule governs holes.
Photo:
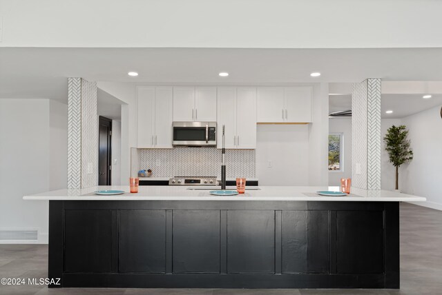
POLYGON ((98 132, 98 185, 111 185, 112 120, 99 116, 98 132))

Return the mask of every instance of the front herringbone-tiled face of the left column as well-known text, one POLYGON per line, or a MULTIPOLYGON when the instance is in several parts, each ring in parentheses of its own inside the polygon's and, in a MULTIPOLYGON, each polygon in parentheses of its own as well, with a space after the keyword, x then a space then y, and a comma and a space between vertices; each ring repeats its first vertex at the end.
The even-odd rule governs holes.
POLYGON ((68 78, 68 188, 81 187, 81 79, 68 78))

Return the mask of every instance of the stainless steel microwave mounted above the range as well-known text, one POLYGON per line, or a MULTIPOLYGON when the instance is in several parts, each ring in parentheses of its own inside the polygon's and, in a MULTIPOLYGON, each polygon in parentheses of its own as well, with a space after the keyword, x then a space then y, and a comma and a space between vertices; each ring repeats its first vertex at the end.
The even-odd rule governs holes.
POLYGON ((173 122, 172 145, 216 146, 216 122, 173 122))

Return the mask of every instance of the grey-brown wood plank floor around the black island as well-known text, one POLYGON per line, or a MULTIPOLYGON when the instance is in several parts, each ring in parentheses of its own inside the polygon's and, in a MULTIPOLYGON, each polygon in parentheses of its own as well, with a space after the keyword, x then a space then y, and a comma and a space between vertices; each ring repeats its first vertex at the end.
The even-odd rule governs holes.
MULTIPOLYGON (((46 278, 47 245, 0 245, 0 278, 46 278)), ((0 294, 442 294, 442 212, 401 204, 401 289, 48 289, 3 286, 0 294)))

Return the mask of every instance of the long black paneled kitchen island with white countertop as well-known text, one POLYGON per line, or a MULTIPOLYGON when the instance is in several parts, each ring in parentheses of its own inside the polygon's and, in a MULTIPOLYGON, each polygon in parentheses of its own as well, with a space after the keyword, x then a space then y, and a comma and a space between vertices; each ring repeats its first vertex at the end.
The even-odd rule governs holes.
POLYGON ((260 187, 238 196, 147 186, 49 200, 52 287, 398 288, 399 202, 425 198, 328 187, 260 187))

